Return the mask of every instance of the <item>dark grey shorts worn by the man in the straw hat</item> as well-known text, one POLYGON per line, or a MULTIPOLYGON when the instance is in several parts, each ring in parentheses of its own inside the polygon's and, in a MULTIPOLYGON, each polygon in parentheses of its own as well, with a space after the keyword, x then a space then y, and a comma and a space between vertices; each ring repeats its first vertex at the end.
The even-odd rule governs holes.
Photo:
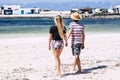
POLYGON ((80 55, 81 53, 81 45, 80 43, 72 44, 72 54, 73 55, 80 55))

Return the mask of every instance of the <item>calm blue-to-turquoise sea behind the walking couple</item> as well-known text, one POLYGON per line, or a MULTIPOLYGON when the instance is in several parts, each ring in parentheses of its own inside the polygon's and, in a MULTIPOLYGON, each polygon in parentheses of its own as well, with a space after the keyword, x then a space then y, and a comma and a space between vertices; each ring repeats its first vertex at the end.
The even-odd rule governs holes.
MULTIPOLYGON (((71 19, 64 19, 68 29, 71 19)), ((83 19, 86 32, 120 32, 120 19, 83 19)), ((54 25, 52 18, 5 18, 0 19, 0 34, 48 33, 54 25)))

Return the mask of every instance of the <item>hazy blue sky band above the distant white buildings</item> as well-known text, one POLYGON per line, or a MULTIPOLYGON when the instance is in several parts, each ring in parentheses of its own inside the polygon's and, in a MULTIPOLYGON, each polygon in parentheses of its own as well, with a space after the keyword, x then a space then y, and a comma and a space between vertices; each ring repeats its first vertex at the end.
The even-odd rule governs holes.
POLYGON ((20 4, 23 7, 41 7, 45 9, 70 9, 75 7, 108 8, 110 6, 120 5, 120 0, 0 0, 0 6, 3 4, 20 4))

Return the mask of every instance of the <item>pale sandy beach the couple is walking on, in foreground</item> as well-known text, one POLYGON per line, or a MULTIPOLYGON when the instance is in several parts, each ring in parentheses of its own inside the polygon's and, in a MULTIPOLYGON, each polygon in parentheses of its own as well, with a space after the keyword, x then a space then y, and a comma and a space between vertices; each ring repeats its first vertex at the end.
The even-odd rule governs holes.
POLYGON ((72 71, 69 46, 61 55, 62 77, 55 74, 48 34, 0 35, 0 80, 119 80, 120 33, 86 33, 82 72, 72 71))

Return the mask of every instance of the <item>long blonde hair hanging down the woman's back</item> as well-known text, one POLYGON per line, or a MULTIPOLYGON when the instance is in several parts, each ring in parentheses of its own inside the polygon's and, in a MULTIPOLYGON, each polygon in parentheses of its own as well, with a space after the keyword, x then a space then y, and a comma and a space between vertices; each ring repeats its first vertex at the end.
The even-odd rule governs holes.
POLYGON ((55 22, 55 25, 57 26, 59 36, 63 39, 64 23, 63 23, 62 17, 60 15, 57 15, 54 18, 54 22, 55 22))

